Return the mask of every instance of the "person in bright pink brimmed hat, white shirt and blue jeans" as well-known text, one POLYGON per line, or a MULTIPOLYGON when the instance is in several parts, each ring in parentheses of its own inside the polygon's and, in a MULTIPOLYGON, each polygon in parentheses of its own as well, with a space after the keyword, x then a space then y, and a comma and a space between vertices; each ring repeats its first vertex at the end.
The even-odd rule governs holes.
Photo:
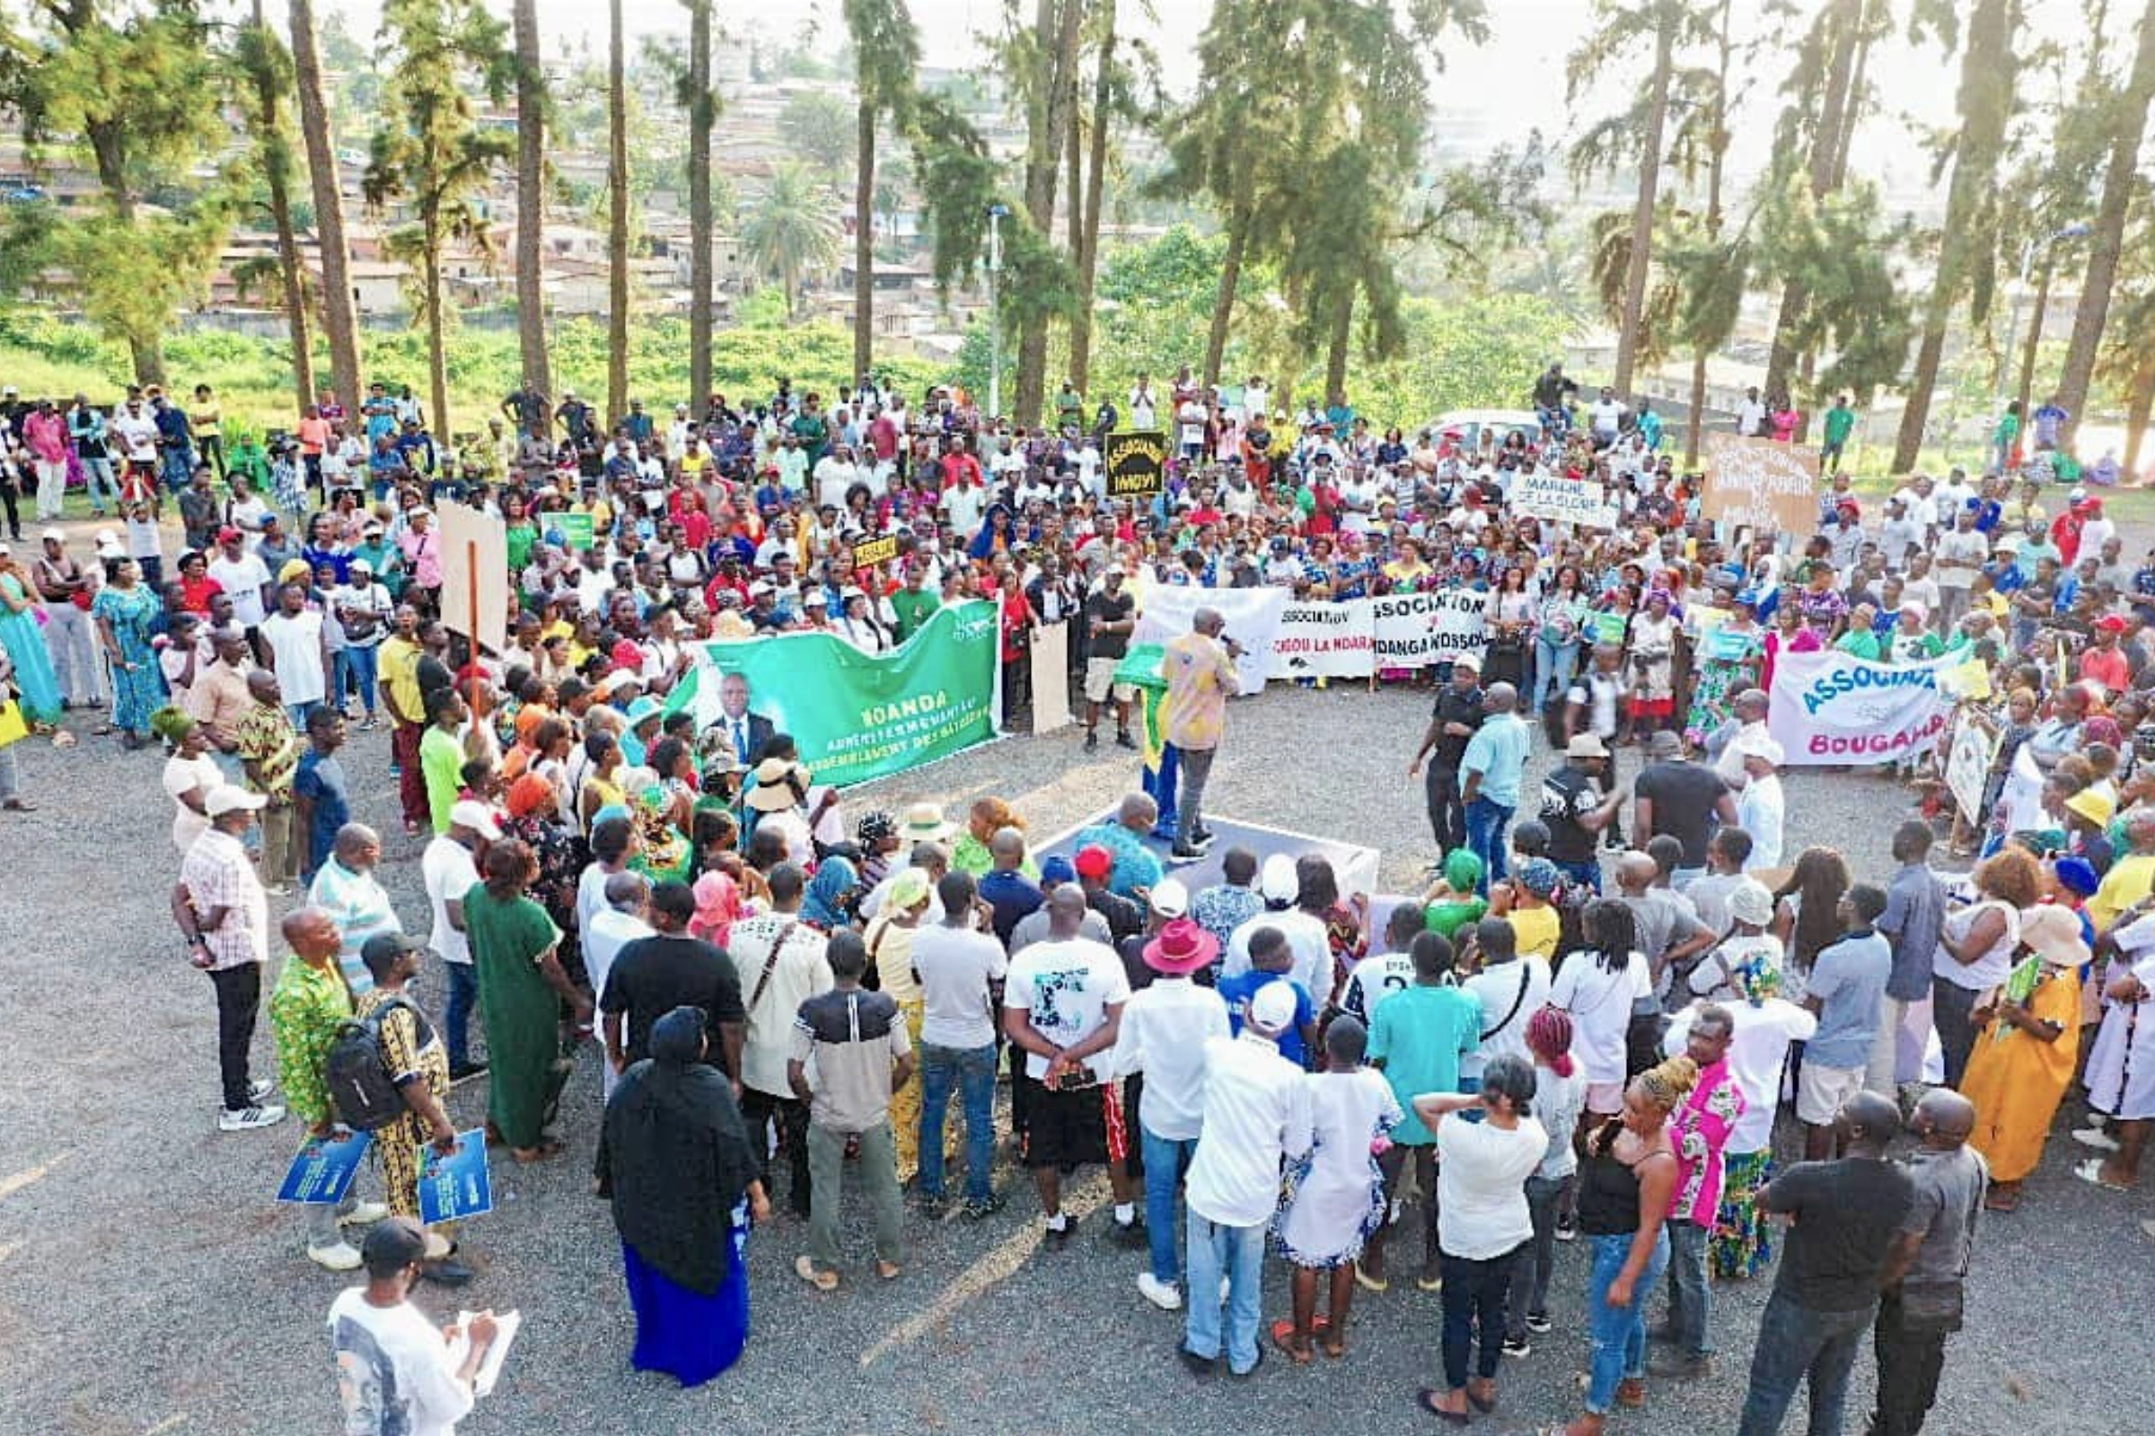
POLYGON ((1192 982, 1211 967, 1220 939, 1187 917, 1168 919, 1144 945, 1153 980, 1123 1008, 1116 1076, 1144 1074, 1136 1126, 1144 1154, 1144 1229, 1151 1268, 1138 1292, 1162 1311, 1183 1305, 1174 1259, 1174 1188, 1190 1171, 1205 1126, 1205 1042, 1231 1036, 1226 1001, 1192 982))

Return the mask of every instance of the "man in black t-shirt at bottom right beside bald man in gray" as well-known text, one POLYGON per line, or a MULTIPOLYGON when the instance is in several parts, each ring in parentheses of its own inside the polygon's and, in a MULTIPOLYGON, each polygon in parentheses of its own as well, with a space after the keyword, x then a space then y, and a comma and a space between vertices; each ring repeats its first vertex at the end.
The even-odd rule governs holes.
POLYGON ((1858 1092, 1834 1130, 1847 1156, 1797 1163, 1758 1193, 1758 1210, 1795 1223, 1758 1318, 1737 1436, 1776 1436, 1804 1380, 1810 1430, 1840 1430, 1849 1371, 1879 1305, 1879 1272, 1916 1201, 1907 1171, 1886 1160, 1901 1130, 1890 1098, 1858 1092))

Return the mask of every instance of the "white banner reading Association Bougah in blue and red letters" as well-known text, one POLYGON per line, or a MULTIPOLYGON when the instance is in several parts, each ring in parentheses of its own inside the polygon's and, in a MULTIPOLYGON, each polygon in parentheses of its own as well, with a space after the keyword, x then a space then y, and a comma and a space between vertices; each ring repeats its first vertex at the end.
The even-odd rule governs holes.
POLYGON ((1767 732, 1786 766, 1892 762, 1927 754, 1946 732, 1952 680, 1965 654, 1873 663, 1836 650, 1784 652, 1774 663, 1767 732))

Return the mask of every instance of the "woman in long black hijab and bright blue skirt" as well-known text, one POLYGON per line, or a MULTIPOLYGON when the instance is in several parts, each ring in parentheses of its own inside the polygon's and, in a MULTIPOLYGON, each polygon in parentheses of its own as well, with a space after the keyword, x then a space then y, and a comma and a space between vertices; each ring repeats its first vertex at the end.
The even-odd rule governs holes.
POLYGON ((651 1027, 651 1057, 606 1102, 597 1163, 636 1307, 636 1369, 683 1386, 741 1358, 748 1227, 771 1214, 733 1087, 703 1048, 700 1008, 651 1027))

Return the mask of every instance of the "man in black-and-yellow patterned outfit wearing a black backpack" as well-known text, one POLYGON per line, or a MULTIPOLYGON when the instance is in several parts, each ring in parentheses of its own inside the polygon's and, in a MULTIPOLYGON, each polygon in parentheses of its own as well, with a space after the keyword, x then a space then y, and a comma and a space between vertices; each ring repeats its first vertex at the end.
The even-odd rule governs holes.
MULTIPOLYGON (((381 1156, 381 1195, 394 1216, 412 1221, 418 1221, 420 1148, 431 1145, 442 1156, 457 1150, 457 1128, 444 1107, 448 1046, 412 995, 425 952, 422 943, 403 932, 377 932, 360 949, 375 988, 360 997, 358 1018, 375 1038, 379 1079, 394 1092, 392 1115, 373 1128, 375 1152, 381 1156)), ((418 1275, 435 1285, 461 1287, 472 1270, 455 1253, 448 1227, 429 1227, 418 1275)))

